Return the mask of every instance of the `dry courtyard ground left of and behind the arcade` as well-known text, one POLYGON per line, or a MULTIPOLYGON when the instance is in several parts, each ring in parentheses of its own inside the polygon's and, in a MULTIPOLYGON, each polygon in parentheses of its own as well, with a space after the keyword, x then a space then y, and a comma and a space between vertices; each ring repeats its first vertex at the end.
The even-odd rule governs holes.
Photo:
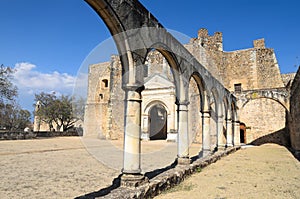
MULTIPOLYGON (((192 145, 191 156, 201 146, 192 145)), ((174 162, 177 144, 142 142, 142 170, 174 162)), ((0 198, 74 198, 112 184, 122 169, 122 142, 79 137, 0 142, 0 198)))

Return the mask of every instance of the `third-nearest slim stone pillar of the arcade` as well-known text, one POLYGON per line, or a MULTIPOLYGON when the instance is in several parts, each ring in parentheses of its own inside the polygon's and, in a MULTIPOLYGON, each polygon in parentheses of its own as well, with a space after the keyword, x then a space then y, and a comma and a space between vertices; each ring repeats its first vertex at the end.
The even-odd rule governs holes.
POLYGON ((202 154, 200 157, 205 157, 210 154, 210 111, 202 112, 202 154))

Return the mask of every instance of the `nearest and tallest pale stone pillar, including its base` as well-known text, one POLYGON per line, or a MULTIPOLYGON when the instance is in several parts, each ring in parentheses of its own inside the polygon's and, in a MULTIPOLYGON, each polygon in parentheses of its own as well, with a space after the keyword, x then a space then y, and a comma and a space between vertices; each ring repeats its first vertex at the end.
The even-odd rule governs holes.
POLYGON ((141 174, 141 91, 126 88, 124 157, 121 185, 136 187, 145 182, 141 174))

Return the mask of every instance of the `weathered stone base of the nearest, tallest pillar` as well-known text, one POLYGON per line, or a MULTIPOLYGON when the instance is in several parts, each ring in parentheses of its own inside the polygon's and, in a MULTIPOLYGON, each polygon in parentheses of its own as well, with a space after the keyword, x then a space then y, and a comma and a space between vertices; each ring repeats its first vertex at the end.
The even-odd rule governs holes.
POLYGON ((122 174, 122 187, 138 187, 149 182, 149 179, 142 174, 122 174))

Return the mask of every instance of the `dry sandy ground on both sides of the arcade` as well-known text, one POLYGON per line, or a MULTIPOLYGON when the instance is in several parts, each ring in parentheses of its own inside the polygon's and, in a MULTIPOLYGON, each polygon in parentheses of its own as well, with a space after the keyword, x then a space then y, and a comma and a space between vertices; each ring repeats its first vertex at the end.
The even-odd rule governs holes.
MULTIPOLYGON (((192 145, 191 156, 201 146, 192 145)), ((142 142, 143 172, 176 158, 176 143, 142 142)), ((111 185, 120 174, 122 142, 61 137, 0 142, 0 198, 82 196, 111 185)), ((158 198, 300 198, 300 163, 285 148, 240 150, 158 198)))

